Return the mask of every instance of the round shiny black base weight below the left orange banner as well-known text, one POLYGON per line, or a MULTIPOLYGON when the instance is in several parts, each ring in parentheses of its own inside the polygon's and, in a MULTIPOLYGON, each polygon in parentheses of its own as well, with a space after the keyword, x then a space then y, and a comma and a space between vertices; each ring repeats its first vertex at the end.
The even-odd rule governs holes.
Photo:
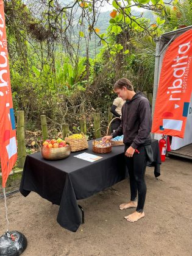
POLYGON ((0 237, 1 256, 19 256, 26 247, 27 239, 18 231, 9 231, 0 237))

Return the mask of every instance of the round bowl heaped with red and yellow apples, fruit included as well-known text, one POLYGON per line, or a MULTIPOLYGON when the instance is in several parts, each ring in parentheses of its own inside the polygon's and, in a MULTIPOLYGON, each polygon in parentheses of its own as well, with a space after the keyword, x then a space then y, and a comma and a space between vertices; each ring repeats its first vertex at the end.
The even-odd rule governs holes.
POLYGON ((41 154, 47 160, 64 159, 71 154, 71 146, 61 138, 45 140, 41 148, 41 154))

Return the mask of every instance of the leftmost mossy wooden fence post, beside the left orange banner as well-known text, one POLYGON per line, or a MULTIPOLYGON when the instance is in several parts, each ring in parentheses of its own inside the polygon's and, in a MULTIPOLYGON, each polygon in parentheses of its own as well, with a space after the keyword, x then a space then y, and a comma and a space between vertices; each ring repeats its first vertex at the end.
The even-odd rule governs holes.
POLYGON ((17 144, 18 144, 18 167, 23 168, 24 161, 26 159, 26 143, 24 136, 24 111, 16 112, 16 123, 17 123, 17 144))

